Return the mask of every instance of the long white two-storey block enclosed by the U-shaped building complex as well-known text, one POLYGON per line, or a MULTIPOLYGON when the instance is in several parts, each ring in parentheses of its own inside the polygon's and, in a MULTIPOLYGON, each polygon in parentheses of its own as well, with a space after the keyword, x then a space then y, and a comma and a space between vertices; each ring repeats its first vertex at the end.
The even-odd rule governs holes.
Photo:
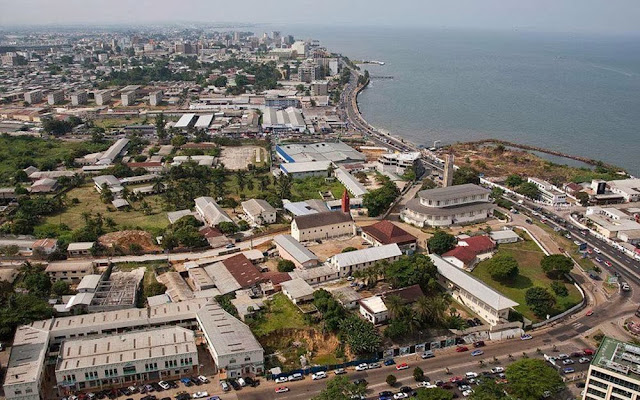
POLYGON ((61 394, 179 378, 199 373, 195 334, 181 327, 67 340, 60 347, 56 381, 61 394))

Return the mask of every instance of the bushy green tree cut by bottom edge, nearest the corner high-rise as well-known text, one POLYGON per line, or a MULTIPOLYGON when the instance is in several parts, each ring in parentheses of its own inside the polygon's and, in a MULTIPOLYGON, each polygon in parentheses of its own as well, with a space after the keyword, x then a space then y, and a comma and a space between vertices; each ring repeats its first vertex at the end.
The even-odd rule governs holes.
POLYGON ((508 392, 521 400, 538 400, 544 392, 553 393, 564 387, 558 372, 543 360, 518 360, 507 367, 505 375, 509 381, 508 392))

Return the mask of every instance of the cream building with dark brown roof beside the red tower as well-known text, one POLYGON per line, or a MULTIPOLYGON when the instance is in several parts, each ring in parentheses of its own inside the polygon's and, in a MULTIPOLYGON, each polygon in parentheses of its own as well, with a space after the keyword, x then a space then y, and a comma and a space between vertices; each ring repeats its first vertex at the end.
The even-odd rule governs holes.
POLYGON ((355 232, 351 215, 341 211, 301 215, 291 222, 291 236, 298 242, 353 236, 355 232))

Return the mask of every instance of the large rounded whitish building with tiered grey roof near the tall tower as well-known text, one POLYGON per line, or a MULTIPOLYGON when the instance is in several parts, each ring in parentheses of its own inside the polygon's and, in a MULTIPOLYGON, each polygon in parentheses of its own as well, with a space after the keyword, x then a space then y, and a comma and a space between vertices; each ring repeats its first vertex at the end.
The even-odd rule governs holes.
POLYGON ((407 202, 403 221, 424 226, 451 226, 483 221, 493 212, 490 191, 474 184, 423 190, 407 202))

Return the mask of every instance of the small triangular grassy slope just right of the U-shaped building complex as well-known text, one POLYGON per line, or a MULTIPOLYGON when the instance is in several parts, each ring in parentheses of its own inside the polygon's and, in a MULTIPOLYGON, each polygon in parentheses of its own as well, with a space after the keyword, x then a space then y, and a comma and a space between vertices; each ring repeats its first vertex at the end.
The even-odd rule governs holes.
POLYGON ((261 337, 282 329, 306 327, 307 323, 300 310, 284 294, 278 293, 273 296, 264 318, 252 325, 251 330, 257 337, 261 337))

